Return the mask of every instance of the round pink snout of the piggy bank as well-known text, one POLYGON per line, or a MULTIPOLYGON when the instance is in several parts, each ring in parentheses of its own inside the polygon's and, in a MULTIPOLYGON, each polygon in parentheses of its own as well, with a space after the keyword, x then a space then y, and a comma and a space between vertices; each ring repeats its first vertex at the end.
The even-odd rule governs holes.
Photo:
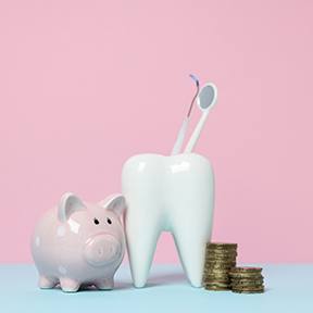
POLYGON ((102 266, 118 259, 121 252, 121 243, 115 237, 101 234, 87 240, 84 255, 90 265, 102 266))

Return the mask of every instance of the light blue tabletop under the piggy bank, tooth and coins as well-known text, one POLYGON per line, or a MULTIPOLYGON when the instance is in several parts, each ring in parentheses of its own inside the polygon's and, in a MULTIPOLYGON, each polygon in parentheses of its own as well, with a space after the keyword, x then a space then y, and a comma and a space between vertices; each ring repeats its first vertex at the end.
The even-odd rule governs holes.
POLYGON ((146 288, 132 286, 122 266, 111 291, 40 290, 33 265, 0 265, 0 312, 313 312, 313 264, 265 265, 265 293, 192 288, 179 265, 153 265, 146 288))

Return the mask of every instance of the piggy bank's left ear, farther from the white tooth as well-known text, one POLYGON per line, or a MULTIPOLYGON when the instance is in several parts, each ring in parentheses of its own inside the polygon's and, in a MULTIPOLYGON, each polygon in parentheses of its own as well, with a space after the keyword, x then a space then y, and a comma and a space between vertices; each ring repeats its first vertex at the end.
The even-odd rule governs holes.
POLYGON ((72 192, 64 193, 58 205, 58 217, 61 222, 66 222, 71 214, 76 211, 85 210, 83 201, 72 192))

